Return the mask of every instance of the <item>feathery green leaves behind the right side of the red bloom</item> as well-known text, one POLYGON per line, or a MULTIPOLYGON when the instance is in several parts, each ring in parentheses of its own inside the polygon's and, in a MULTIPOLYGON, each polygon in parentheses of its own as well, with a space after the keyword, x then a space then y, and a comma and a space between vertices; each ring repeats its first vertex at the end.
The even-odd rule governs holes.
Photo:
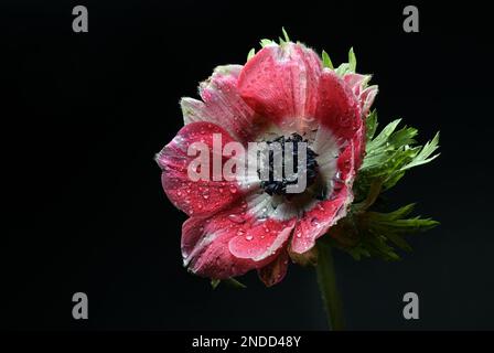
POLYGON ((418 130, 407 126, 398 128, 400 121, 391 121, 376 136, 377 113, 374 110, 366 118, 366 154, 353 185, 355 201, 348 214, 330 229, 335 246, 357 260, 363 257, 397 260, 395 248, 411 250, 405 235, 426 232, 439 224, 431 218, 411 216, 415 204, 391 212, 373 210, 376 201, 383 207, 382 193, 396 185, 408 169, 439 156, 436 153, 439 133, 419 146, 418 130))

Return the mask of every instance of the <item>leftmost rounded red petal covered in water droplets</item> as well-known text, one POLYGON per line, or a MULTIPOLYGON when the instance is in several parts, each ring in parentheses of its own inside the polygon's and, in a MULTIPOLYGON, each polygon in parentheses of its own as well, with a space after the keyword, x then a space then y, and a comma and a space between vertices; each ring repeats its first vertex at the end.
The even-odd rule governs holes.
MULTIPOLYGON (((210 149, 210 170, 213 170, 213 133, 222 136, 222 148, 234 139, 223 128, 211 122, 193 122, 183 127, 175 138, 157 156, 162 169, 161 181, 170 201, 187 215, 207 215, 217 212, 243 196, 235 181, 192 181, 187 173, 196 156, 187 156, 193 142, 204 142, 210 149)), ((198 156, 198 154, 197 154, 198 156)), ((218 156, 216 156, 218 157, 218 156)), ((218 159, 223 163, 225 159, 218 159)))

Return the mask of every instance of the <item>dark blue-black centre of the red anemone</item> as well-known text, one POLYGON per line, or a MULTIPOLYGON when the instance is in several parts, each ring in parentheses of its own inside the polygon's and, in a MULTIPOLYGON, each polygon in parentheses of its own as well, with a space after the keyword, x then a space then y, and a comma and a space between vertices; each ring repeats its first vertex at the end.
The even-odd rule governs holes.
POLYGON ((261 168, 257 170, 266 193, 301 193, 313 184, 318 176, 318 154, 307 142, 299 133, 266 141, 267 150, 262 151, 261 168))

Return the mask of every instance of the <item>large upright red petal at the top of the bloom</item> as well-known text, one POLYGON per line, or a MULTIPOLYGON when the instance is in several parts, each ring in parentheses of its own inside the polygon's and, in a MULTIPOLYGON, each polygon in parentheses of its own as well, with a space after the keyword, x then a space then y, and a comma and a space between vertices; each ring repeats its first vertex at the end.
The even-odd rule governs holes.
POLYGON ((244 100, 282 130, 303 131, 314 116, 322 63, 302 44, 264 47, 244 66, 238 88, 244 100))

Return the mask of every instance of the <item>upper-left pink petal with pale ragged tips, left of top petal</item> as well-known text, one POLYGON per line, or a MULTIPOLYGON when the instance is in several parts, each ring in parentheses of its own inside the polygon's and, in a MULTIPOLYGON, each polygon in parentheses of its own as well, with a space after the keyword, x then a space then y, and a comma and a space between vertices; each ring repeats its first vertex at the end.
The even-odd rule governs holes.
POLYGON ((259 117, 240 98, 237 78, 240 65, 218 66, 213 75, 200 85, 203 101, 182 98, 184 124, 210 121, 225 128, 240 142, 248 142, 261 128, 259 117))

